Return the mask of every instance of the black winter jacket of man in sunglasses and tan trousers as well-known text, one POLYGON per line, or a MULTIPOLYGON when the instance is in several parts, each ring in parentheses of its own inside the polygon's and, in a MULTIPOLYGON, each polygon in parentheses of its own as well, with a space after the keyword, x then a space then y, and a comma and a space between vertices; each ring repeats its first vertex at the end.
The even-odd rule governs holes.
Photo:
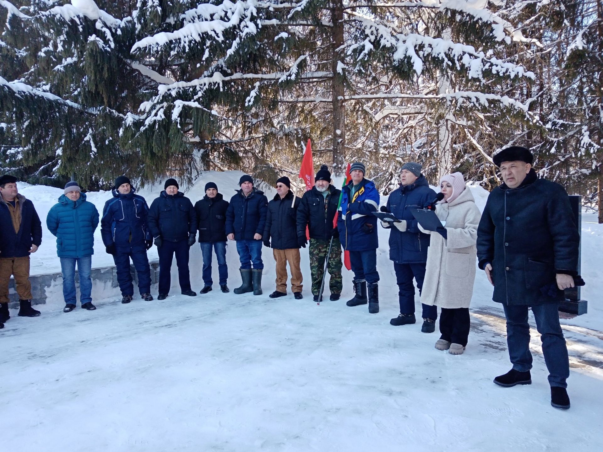
POLYGON ((297 231, 295 229, 297 208, 300 201, 301 199, 297 196, 293 201, 293 192, 289 190, 285 198, 281 199, 277 193, 274 199, 268 202, 266 228, 264 234, 262 234, 262 240, 270 240, 271 248, 290 250, 291 248, 300 247, 297 243, 297 231), (291 207, 291 204, 293 204, 293 207, 291 207))

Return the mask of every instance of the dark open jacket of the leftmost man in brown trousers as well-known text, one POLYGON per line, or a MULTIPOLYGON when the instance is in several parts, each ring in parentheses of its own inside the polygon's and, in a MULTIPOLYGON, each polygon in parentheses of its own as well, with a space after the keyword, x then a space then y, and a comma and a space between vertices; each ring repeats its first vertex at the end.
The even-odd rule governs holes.
POLYGON ((16 233, 7 202, 0 196, 0 257, 25 257, 30 255, 31 245, 42 243, 42 222, 33 202, 17 194, 21 209, 21 227, 16 233))

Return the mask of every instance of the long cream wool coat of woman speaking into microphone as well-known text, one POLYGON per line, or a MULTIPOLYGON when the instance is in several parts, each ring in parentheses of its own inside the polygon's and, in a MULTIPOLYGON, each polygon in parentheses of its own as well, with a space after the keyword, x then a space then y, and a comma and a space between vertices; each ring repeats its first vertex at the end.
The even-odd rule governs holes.
POLYGON ((481 213, 471 190, 466 188, 452 202, 438 204, 435 214, 446 221, 448 238, 419 226, 421 231, 431 234, 421 303, 447 309, 469 307, 475 281, 475 242, 481 213))

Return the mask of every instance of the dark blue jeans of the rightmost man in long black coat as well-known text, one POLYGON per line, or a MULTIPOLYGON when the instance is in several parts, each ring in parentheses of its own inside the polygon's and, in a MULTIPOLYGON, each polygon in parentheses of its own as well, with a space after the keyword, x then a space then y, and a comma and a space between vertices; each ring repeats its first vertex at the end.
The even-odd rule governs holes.
MULTIPOLYGON (((527 372, 532 368, 532 354, 529 351, 528 306, 507 306, 507 345, 513 369, 527 372)), ((532 306, 536 329, 542 341, 542 354, 545 356, 546 368, 549 369, 549 385, 567 388, 569 377, 569 358, 559 324, 559 304, 545 303, 532 306)))

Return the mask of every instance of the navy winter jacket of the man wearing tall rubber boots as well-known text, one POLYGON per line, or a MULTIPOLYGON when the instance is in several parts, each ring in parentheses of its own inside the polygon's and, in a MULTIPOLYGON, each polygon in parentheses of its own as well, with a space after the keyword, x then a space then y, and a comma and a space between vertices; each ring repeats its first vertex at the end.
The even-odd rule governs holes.
POLYGON ((226 235, 235 234, 235 240, 253 240, 255 234, 264 234, 267 210, 268 198, 261 190, 254 188, 248 196, 236 190, 226 210, 226 235))

